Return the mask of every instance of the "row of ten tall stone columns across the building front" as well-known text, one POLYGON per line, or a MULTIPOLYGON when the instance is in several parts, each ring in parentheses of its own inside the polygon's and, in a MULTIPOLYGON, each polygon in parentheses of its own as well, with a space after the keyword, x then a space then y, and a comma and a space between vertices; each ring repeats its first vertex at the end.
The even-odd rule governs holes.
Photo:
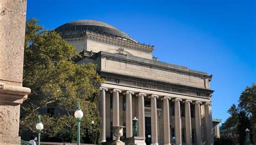
MULTIPOLYGON (((105 110, 105 91, 108 89, 106 87, 100 87, 100 104, 99 112, 102 117, 102 135, 100 142, 106 141, 106 110, 105 110)), ((124 91, 121 89, 113 88, 113 126, 119 126, 119 93, 124 92, 126 94, 126 138, 132 137, 132 94, 133 91, 124 91)), ((136 94, 138 96, 138 136, 145 137, 145 109, 144 109, 144 98, 148 97, 151 100, 151 142, 152 144, 158 144, 158 117, 157 117, 157 94, 148 94, 139 92, 136 94)), ((163 111, 164 111, 164 144, 171 144, 170 140, 170 113, 169 113, 169 100, 174 102, 174 115, 175 115, 175 136, 176 144, 182 144, 181 141, 181 116, 180 116, 180 102, 185 103, 185 127, 186 127, 186 144, 192 145, 192 127, 191 127, 191 104, 195 107, 195 122, 196 122, 196 144, 203 144, 202 139, 202 126, 201 126, 201 111, 200 105, 203 104, 201 101, 188 100, 181 98, 174 98, 171 96, 161 96, 163 100, 163 111)), ((205 106, 205 128, 206 128, 206 142, 207 144, 213 144, 212 136, 212 114, 211 114, 211 103, 204 102, 205 106)))

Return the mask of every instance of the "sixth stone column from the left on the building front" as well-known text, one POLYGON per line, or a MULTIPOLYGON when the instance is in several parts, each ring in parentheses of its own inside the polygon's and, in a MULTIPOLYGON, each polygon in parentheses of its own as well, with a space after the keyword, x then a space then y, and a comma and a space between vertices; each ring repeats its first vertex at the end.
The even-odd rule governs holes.
POLYGON ((163 100, 163 108, 164 108, 164 144, 170 145, 170 114, 169 114, 169 100, 171 100, 170 96, 164 96, 161 98, 163 100))

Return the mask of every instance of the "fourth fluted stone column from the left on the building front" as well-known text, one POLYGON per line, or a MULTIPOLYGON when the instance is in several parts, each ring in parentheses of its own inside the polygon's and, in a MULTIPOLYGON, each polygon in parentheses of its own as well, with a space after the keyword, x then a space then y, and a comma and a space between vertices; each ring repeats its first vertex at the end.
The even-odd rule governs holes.
POLYGON ((138 112, 139 112, 139 133, 138 136, 139 137, 145 137, 145 111, 144 111, 144 96, 146 96, 145 93, 139 93, 138 94, 138 112))

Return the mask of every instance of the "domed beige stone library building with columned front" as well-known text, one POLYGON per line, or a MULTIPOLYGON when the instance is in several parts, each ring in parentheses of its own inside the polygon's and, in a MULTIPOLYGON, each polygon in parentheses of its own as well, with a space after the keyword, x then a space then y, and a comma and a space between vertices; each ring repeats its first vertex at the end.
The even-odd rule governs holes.
POLYGON ((91 20, 56 29, 83 58, 96 63, 105 78, 99 112, 101 142, 114 139, 111 126, 125 126, 138 118, 143 144, 213 144, 211 75, 152 58, 154 47, 140 44, 113 26, 91 20))

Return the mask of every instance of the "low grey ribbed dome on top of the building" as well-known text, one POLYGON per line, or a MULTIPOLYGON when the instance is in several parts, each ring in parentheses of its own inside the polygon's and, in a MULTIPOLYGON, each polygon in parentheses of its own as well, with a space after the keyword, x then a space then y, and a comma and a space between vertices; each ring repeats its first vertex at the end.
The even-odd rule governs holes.
POLYGON ((63 24, 55 29, 58 33, 66 32, 66 31, 85 31, 90 30, 99 33, 110 34, 114 37, 126 38, 134 41, 128 34, 118 30, 116 27, 104 23, 99 22, 97 20, 76 20, 73 22, 69 22, 63 24))

